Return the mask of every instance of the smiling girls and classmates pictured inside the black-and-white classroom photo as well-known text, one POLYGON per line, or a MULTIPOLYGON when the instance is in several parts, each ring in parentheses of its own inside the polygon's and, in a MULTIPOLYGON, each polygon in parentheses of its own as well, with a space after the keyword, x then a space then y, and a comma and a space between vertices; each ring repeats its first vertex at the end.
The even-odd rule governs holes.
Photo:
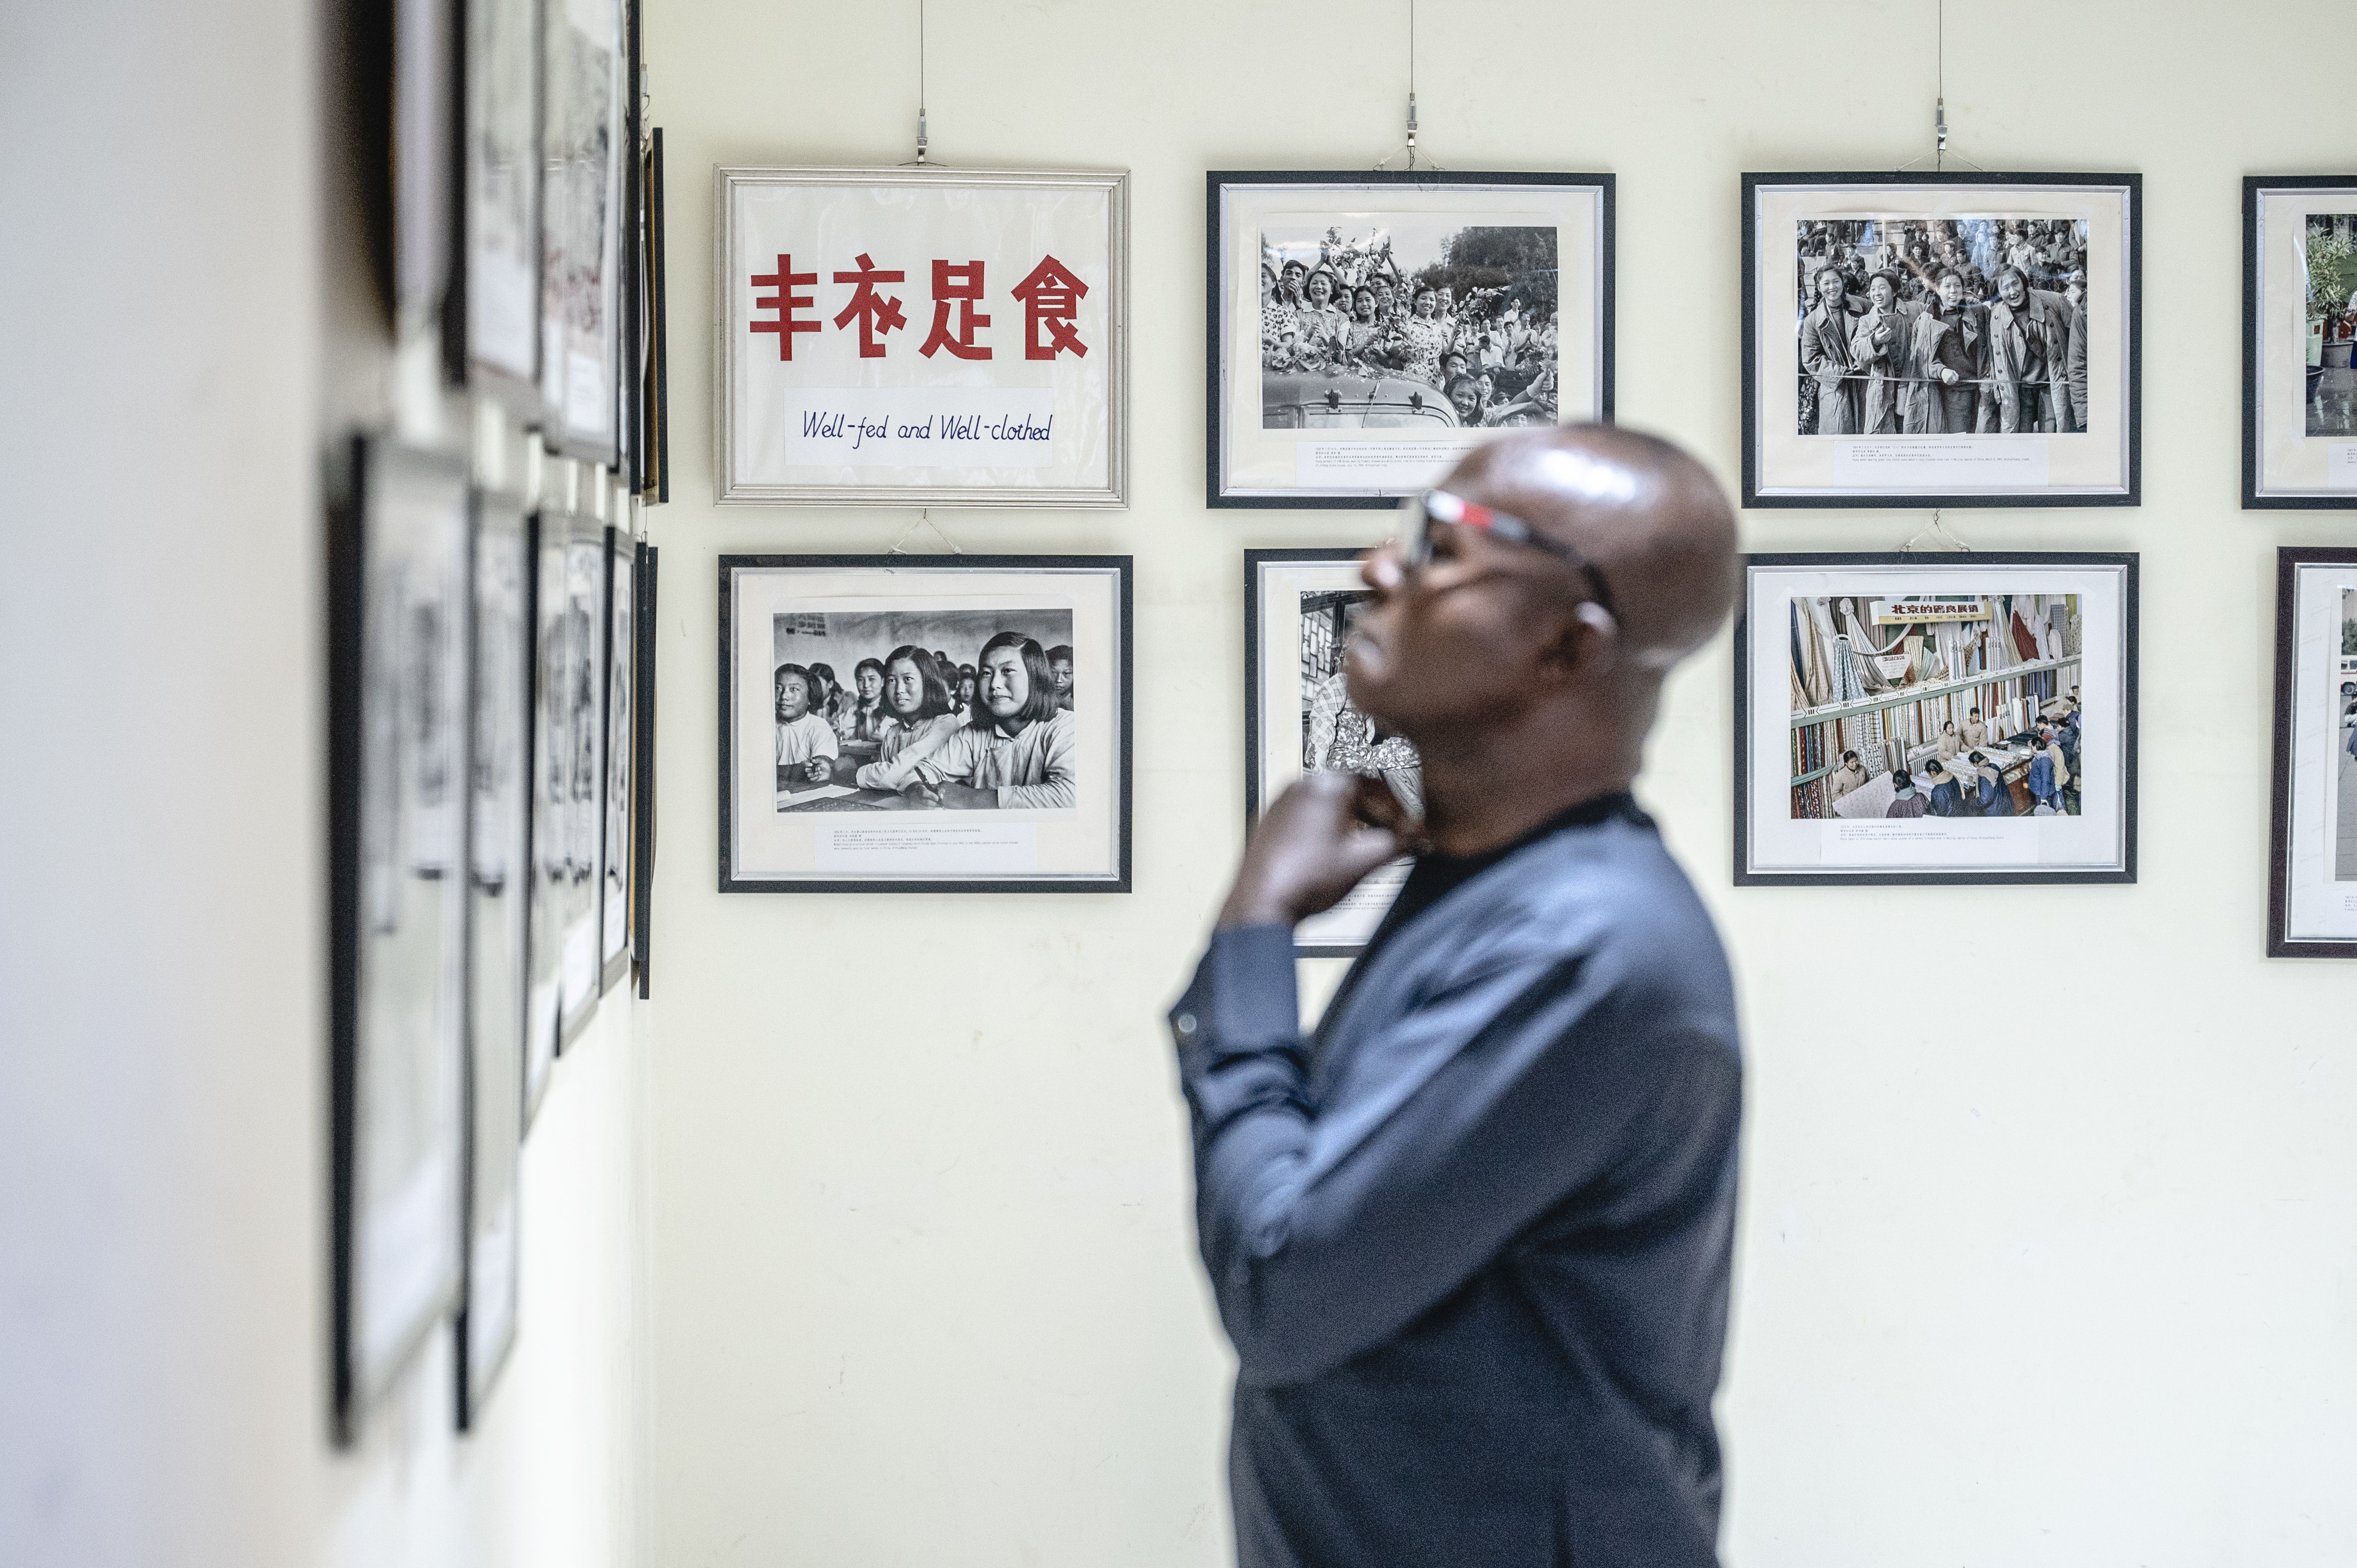
POLYGON ((1072 648, 990 632, 973 663, 917 644, 780 663, 778 811, 1075 804, 1072 648))

